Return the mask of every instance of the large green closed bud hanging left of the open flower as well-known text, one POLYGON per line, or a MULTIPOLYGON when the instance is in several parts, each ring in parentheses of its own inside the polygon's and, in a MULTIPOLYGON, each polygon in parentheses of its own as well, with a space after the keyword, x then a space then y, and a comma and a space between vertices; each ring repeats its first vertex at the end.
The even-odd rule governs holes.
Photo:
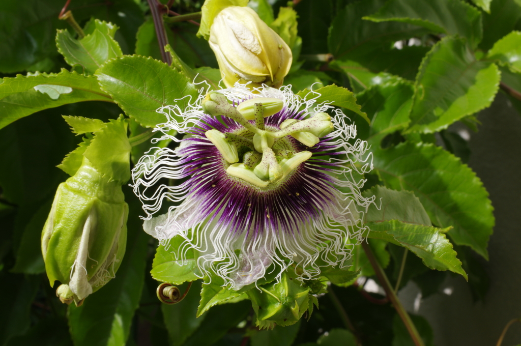
POLYGON ((100 289, 121 264, 127 241, 128 205, 121 184, 83 158, 76 174, 61 183, 42 231, 42 253, 51 286, 78 303, 100 289))

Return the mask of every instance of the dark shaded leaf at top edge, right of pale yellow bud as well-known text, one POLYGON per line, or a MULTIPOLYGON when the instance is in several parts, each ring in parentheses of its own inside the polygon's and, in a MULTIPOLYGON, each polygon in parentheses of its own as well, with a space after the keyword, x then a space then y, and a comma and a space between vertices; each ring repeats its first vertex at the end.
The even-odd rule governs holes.
POLYGON ((362 17, 375 13, 383 0, 364 0, 346 6, 331 23, 328 35, 329 53, 338 60, 354 60, 371 56, 382 46, 421 36, 426 30, 416 25, 386 21, 375 23, 362 17), (349 23, 349 25, 346 25, 349 23))

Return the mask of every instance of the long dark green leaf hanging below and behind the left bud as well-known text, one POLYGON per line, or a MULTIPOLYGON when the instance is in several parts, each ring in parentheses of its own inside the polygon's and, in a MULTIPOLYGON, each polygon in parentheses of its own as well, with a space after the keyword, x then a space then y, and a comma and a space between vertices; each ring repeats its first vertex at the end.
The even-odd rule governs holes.
POLYGON ((80 307, 69 305, 70 335, 76 346, 125 345, 139 306, 145 279, 147 236, 141 229, 139 202, 129 198, 130 213, 125 257, 116 277, 85 299, 80 307))

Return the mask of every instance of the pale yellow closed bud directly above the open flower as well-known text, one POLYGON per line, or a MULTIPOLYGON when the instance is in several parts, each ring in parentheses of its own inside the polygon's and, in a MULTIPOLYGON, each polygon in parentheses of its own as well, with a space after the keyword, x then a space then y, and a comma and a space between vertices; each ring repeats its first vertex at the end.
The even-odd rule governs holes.
POLYGON ((222 9, 210 27, 214 51, 227 87, 235 82, 278 88, 291 67, 289 46, 249 7, 222 9))

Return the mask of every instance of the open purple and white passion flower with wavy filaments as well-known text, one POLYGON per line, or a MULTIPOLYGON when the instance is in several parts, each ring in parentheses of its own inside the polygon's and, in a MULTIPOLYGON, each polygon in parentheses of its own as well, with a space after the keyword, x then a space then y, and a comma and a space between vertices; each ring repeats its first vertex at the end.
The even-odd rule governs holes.
POLYGON ((341 110, 316 98, 236 84, 201 90, 185 110, 160 108, 167 122, 156 130, 180 144, 153 149, 133 169, 145 231, 164 245, 182 237, 180 259, 193 249, 202 275, 234 290, 274 270, 280 279, 289 266, 308 280, 348 265, 365 231, 360 210, 373 202, 360 194, 372 156, 341 110), (168 213, 152 217, 164 202, 168 213))

